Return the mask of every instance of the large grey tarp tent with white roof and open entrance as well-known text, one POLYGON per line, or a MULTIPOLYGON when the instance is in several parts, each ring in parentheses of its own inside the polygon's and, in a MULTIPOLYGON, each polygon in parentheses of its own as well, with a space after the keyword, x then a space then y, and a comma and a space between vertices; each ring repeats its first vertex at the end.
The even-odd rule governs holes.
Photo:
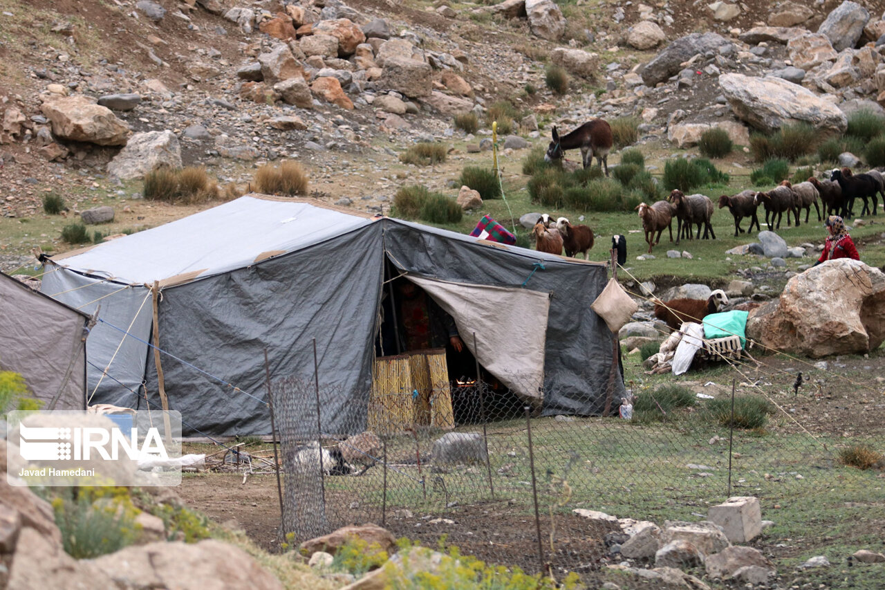
MULTIPOLYGON (((323 428, 340 431, 343 424, 365 423, 365 404, 349 403, 347 394, 365 400, 371 388, 385 257, 419 279, 547 294, 544 392, 523 393, 534 393, 545 415, 601 411, 612 334, 589 306, 605 286, 604 265, 371 218, 312 199, 248 195, 56 257, 49 264, 58 272, 46 276, 43 291, 89 303, 87 311, 102 306, 87 344, 90 359, 113 378, 90 368, 90 403, 143 407, 143 380, 150 407, 159 407, 158 372, 147 344, 156 300, 165 392, 186 430, 268 434, 264 351, 272 380, 312 381, 316 338, 322 390, 344 393, 323 401, 323 428), (155 281, 158 298, 150 290, 155 281)), ((503 310, 489 318, 496 321, 517 322, 519 316, 503 310)), ((482 325, 474 330, 483 362, 484 349, 494 343, 484 338, 482 325)), ((465 338, 468 346, 471 338, 465 338)), ((499 343, 498 359, 508 345, 499 343)), ((623 384, 614 381, 612 397, 620 400, 623 384)))

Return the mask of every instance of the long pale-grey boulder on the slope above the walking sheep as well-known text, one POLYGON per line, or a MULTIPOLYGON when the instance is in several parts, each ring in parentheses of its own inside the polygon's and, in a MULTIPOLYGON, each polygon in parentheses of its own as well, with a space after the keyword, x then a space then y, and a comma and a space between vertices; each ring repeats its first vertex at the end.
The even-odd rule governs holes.
POLYGON ((720 87, 735 115, 766 133, 797 121, 838 133, 848 128, 837 106, 782 78, 722 74, 720 87))

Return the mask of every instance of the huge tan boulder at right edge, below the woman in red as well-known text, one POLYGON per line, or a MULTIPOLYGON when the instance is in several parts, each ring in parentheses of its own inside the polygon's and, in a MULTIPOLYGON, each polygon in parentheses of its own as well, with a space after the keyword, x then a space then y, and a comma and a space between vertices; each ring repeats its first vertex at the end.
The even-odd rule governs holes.
POLYGON ((750 315, 747 337, 812 358, 874 350, 885 341, 885 274, 850 259, 809 268, 750 315))

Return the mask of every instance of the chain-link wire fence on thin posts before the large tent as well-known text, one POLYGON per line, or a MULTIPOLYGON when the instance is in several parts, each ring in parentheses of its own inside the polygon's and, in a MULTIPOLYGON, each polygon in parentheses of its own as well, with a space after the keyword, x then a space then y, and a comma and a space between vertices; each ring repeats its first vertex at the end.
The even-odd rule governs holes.
MULTIPOLYGON (((734 404, 727 369, 715 373, 724 385, 694 389, 641 384, 628 373, 637 397, 627 420, 619 408, 545 416, 542 400, 519 397, 494 377, 449 380, 444 366, 413 356, 376 364, 372 391, 346 399, 321 378, 274 384, 284 532, 304 540, 372 522, 430 546, 445 535, 487 563, 591 579, 623 559, 635 524, 625 519, 697 522, 731 496, 755 496, 786 537, 805 509, 837 510, 872 489, 881 497, 878 472, 843 457, 850 448, 881 452, 881 427, 806 427, 790 411, 797 395, 789 386, 766 389, 765 369, 735 386, 734 404), (324 408, 342 402, 350 418, 327 430, 324 408)), ((865 410, 882 423, 885 406, 865 410)), ((790 556, 773 547, 769 555, 790 556)))

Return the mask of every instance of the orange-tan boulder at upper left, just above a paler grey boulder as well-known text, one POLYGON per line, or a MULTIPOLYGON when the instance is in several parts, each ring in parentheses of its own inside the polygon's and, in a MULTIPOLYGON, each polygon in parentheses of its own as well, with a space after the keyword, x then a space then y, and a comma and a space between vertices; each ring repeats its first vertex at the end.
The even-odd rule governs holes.
POLYGON ((52 98, 40 110, 50 120, 52 133, 68 141, 125 145, 129 136, 127 124, 111 109, 81 94, 52 98))

